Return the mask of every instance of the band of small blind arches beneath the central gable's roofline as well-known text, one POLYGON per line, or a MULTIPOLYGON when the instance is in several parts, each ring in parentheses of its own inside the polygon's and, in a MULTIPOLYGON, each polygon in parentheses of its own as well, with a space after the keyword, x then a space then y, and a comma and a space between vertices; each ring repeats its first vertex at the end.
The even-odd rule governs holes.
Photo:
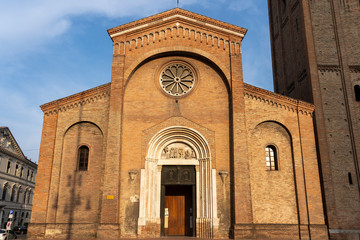
POLYGON ((227 39, 208 34, 207 32, 183 27, 178 23, 173 27, 156 30, 149 34, 143 35, 142 37, 136 37, 128 41, 115 42, 114 54, 125 55, 127 51, 133 51, 134 49, 175 37, 199 41, 200 43, 210 45, 212 47, 218 47, 223 50, 229 48, 231 54, 240 54, 240 42, 229 41, 227 39))

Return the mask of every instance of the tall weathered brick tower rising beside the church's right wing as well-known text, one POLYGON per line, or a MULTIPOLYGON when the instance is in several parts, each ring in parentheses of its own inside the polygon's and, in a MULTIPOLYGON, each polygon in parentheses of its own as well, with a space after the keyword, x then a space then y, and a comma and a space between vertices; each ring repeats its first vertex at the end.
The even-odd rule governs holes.
POLYGON ((275 91, 316 107, 317 148, 330 236, 359 239, 360 108, 354 87, 359 84, 360 2, 268 3, 275 91), (289 81, 294 82, 292 88, 287 87, 289 81))

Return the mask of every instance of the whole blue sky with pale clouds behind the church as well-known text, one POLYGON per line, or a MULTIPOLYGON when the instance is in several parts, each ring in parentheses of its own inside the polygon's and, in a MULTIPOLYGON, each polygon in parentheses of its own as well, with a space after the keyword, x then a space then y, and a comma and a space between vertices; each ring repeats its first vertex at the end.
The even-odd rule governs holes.
MULTIPOLYGON (((0 0, 0 126, 38 161, 40 105, 110 82, 106 30, 176 7, 176 0, 0 0)), ((248 29, 244 81, 273 90, 267 0, 180 0, 180 7, 248 29)))

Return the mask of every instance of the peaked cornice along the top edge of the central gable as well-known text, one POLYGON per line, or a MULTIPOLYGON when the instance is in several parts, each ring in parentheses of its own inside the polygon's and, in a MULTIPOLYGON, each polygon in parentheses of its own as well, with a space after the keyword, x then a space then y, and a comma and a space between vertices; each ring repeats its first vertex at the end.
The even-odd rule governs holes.
POLYGON ((234 32, 234 33, 240 33, 242 35, 242 37, 246 34, 246 31, 247 31, 247 29, 245 29, 245 28, 241 28, 241 27, 229 24, 229 23, 215 20, 215 19, 203 16, 203 15, 200 15, 197 13, 193 13, 193 12, 181 9, 181 8, 174 8, 174 9, 171 9, 171 10, 168 10, 168 11, 150 16, 150 17, 146 17, 146 18, 134 21, 134 22, 130 22, 127 24, 120 25, 118 27, 111 28, 108 30, 108 33, 111 37, 114 37, 116 35, 121 34, 122 32, 128 33, 132 29, 135 31, 142 27, 148 27, 153 24, 163 22, 166 19, 168 19, 172 16, 175 16, 175 15, 192 19, 192 20, 194 20, 194 22, 205 25, 207 27, 213 26, 213 28, 215 28, 215 29, 218 29, 218 30, 221 29, 222 31, 225 31, 228 33, 229 33, 229 31, 234 32))

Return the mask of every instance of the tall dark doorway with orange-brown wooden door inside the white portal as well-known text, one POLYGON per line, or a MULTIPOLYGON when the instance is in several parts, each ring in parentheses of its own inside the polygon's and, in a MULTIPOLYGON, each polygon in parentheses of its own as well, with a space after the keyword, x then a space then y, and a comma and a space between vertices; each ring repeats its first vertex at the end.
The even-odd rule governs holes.
POLYGON ((166 184, 166 176, 162 181, 162 235, 195 236, 195 184, 181 184, 184 183, 181 181, 182 170, 185 169, 186 178, 195 170, 192 166, 169 167, 165 168, 165 172, 170 169, 170 175, 178 177, 178 181, 166 184))

